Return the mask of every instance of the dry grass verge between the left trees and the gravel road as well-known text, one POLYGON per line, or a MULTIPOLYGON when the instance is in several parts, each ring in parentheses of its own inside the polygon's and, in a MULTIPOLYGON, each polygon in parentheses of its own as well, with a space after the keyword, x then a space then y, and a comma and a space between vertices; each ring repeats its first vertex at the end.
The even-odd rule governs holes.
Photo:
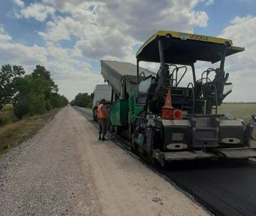
POLYGON ((0 127, 0 154, 16 147, 49 122, 60 109, 53 109, 43 115, 27 116, 22 120, 0 127))

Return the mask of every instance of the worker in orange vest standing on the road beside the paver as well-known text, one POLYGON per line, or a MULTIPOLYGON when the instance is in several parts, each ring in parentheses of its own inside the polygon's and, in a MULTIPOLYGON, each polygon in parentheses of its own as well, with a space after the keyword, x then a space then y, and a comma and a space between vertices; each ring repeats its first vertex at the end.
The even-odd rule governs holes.
POLYGON ((102 99, 100 104, 97 108, 97 118, 98 118, 98 125, 100 126, 100 130, 98 131, 98 140, 107 140, 105 138, 105 134, 107 131, 107 118, 108 118, 108 108, 106 106, 106 100, 102 99), (102 134, 102 138, 101 138, 102 134))

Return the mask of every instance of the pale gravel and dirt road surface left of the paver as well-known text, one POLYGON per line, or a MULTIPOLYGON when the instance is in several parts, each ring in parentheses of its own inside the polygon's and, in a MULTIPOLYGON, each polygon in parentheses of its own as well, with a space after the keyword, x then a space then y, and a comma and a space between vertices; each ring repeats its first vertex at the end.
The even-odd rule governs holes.
POLYGON ((208 215, 65 107, 0 160, 0 215, 208 215))

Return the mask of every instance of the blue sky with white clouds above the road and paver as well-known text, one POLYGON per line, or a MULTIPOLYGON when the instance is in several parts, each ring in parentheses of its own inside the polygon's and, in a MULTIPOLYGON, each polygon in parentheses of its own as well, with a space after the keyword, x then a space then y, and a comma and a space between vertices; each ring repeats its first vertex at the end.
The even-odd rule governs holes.
MULTIPOLYGON (((254 0, 0 0, 0 65, 40 64, 72 100, 104 83, 100 60, 136 63, 138 48, 158 30, 232 39, 245 51, 227 57, 226 102, 256 101, 254 0)), ((142 66, 157 72, 159 65, 142 66)), ((196 75, 213 65, 198 64, 196 75)), ((214 64, 214 67, 218 65, 214 64)))

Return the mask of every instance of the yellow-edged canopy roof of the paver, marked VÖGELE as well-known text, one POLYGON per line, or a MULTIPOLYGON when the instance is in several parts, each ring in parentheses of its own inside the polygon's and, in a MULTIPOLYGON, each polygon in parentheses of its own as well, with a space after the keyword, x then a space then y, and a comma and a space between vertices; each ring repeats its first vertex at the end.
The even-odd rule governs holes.
POLYGON ((136 53, 139 61, 160 62, 158 39, 162 40, 164 63, 192 64, 196 61, 221 60, 221 53, 226 48, 226 56, 244 51, 244 47, 232 46, 229 39, 213 36, 196 35, 174 31, 158 31, 140 47, 136 53))

